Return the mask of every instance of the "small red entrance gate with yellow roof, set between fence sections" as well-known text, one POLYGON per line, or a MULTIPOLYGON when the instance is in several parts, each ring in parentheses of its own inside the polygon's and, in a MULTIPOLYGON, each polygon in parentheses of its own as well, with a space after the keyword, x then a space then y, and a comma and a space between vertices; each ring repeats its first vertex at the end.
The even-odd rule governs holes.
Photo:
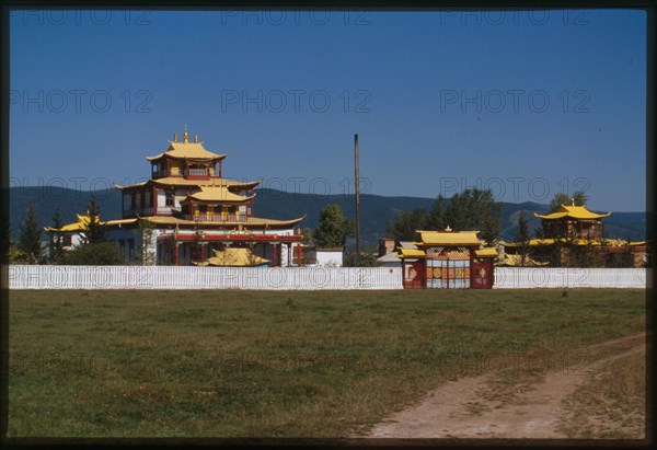
POLYGON ((419 242, 399 247, 403 286, 417 288, 492 288, 497 251, 484 247, 477 231, 417 230, 419 242))

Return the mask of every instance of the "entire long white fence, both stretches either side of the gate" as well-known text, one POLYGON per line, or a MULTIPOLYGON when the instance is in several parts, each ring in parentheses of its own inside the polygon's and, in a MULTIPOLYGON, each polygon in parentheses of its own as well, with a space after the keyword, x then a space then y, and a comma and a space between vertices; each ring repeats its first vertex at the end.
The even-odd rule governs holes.
MULTIPOLYGON (((494 288, 645 288, 649 269, 496 267, 494 288)), ((399 267, 9 266, 10 289, 402 289, 399 267)))

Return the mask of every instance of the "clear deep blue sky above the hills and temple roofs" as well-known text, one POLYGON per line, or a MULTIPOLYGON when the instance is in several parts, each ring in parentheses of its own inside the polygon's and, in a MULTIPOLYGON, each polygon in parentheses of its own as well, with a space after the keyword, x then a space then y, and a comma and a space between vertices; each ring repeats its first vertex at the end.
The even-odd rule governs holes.
POLYGON ((104 188, 187 125, 264 187, 645 209, 646 14, 13 11, 12 185, 104 188))

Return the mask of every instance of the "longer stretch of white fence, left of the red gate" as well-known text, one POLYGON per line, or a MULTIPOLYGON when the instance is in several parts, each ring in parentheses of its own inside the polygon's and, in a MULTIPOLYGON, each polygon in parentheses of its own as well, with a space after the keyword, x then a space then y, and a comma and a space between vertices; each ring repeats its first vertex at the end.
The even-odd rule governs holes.
POLYGON ((402 289, 390 267, 18 266, 10 289, 402 289))

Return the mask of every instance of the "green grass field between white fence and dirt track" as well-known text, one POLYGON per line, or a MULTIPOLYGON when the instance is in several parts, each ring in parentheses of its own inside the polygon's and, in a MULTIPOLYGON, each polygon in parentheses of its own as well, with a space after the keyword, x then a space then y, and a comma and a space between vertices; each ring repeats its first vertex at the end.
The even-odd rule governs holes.
POLYGON ((346 437, 645 314, 624 289, 12 291, 9 436, 346 437))

